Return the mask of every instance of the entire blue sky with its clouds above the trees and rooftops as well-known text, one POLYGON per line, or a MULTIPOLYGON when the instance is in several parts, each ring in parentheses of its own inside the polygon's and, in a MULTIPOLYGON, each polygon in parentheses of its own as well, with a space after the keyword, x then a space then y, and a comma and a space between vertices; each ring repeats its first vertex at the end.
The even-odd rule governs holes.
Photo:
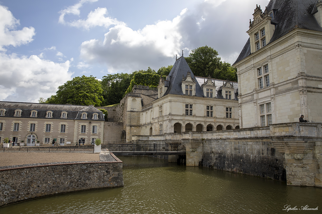
POLYGON ((208 45, 233 63, 268 0, 0 0, 0 100, 37 102, 81 75, 174 64, 208 45))

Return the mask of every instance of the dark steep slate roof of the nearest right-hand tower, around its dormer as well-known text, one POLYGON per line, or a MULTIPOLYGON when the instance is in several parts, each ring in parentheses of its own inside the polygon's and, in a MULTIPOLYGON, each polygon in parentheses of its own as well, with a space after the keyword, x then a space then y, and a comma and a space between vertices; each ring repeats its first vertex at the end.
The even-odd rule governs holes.
MULTIPOLYGON (((313 15, 316 12, 316 3, 317 0, 271 0, 266 11, 273 10, 274 18, 271 19, 271 24, 275 25, 275 31, 268 44, 296 28, 322 31, 313 15)), ((251 55, 250 39, 234 64, 249 55, 251 55)))

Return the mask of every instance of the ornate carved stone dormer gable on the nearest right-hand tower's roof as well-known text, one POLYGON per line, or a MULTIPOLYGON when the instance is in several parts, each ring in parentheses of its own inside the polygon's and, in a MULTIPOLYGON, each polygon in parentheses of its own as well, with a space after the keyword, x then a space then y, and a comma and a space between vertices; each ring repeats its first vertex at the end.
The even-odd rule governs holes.
POLYGON ((268 13, 265 9, 264 13, 260 6, 256 4, 253 13, 253 21, 250 20, 249 30, 247 31, 250 37, 251 53, 254 53, 265 47, 273 36, 275 26, 271 24, 273 13, 268 13))

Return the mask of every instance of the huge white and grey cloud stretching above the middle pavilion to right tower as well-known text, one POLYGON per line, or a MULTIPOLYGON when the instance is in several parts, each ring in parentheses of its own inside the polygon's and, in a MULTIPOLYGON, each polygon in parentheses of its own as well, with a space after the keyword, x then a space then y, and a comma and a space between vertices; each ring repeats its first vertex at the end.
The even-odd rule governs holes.
MULTIPOLYGON (((268 0, 260 2, 265 5, 268 0)), ((232 64, 248 39, 242 32, 248 30, 256 4, 255 0, 207 0, 183 9, 173 20, 157 21, 143 29, 114 24, 103 41, 84 41, 81 57, 88 63, 106 64, 109 73, 133 72, 173 64, 180 50, 187 50, 184 56, 188 56, 192 49, 208 45, 232 64)))

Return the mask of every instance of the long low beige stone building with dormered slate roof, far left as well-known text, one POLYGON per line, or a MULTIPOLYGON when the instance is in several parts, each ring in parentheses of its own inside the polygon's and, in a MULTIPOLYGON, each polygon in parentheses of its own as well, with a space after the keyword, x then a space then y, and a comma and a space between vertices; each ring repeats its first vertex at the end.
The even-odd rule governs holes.
POLYGON ((0 101, 0 142, 8 137, 13 145, 75 145, 103 139, 104 116, 93 106, 0 101))

